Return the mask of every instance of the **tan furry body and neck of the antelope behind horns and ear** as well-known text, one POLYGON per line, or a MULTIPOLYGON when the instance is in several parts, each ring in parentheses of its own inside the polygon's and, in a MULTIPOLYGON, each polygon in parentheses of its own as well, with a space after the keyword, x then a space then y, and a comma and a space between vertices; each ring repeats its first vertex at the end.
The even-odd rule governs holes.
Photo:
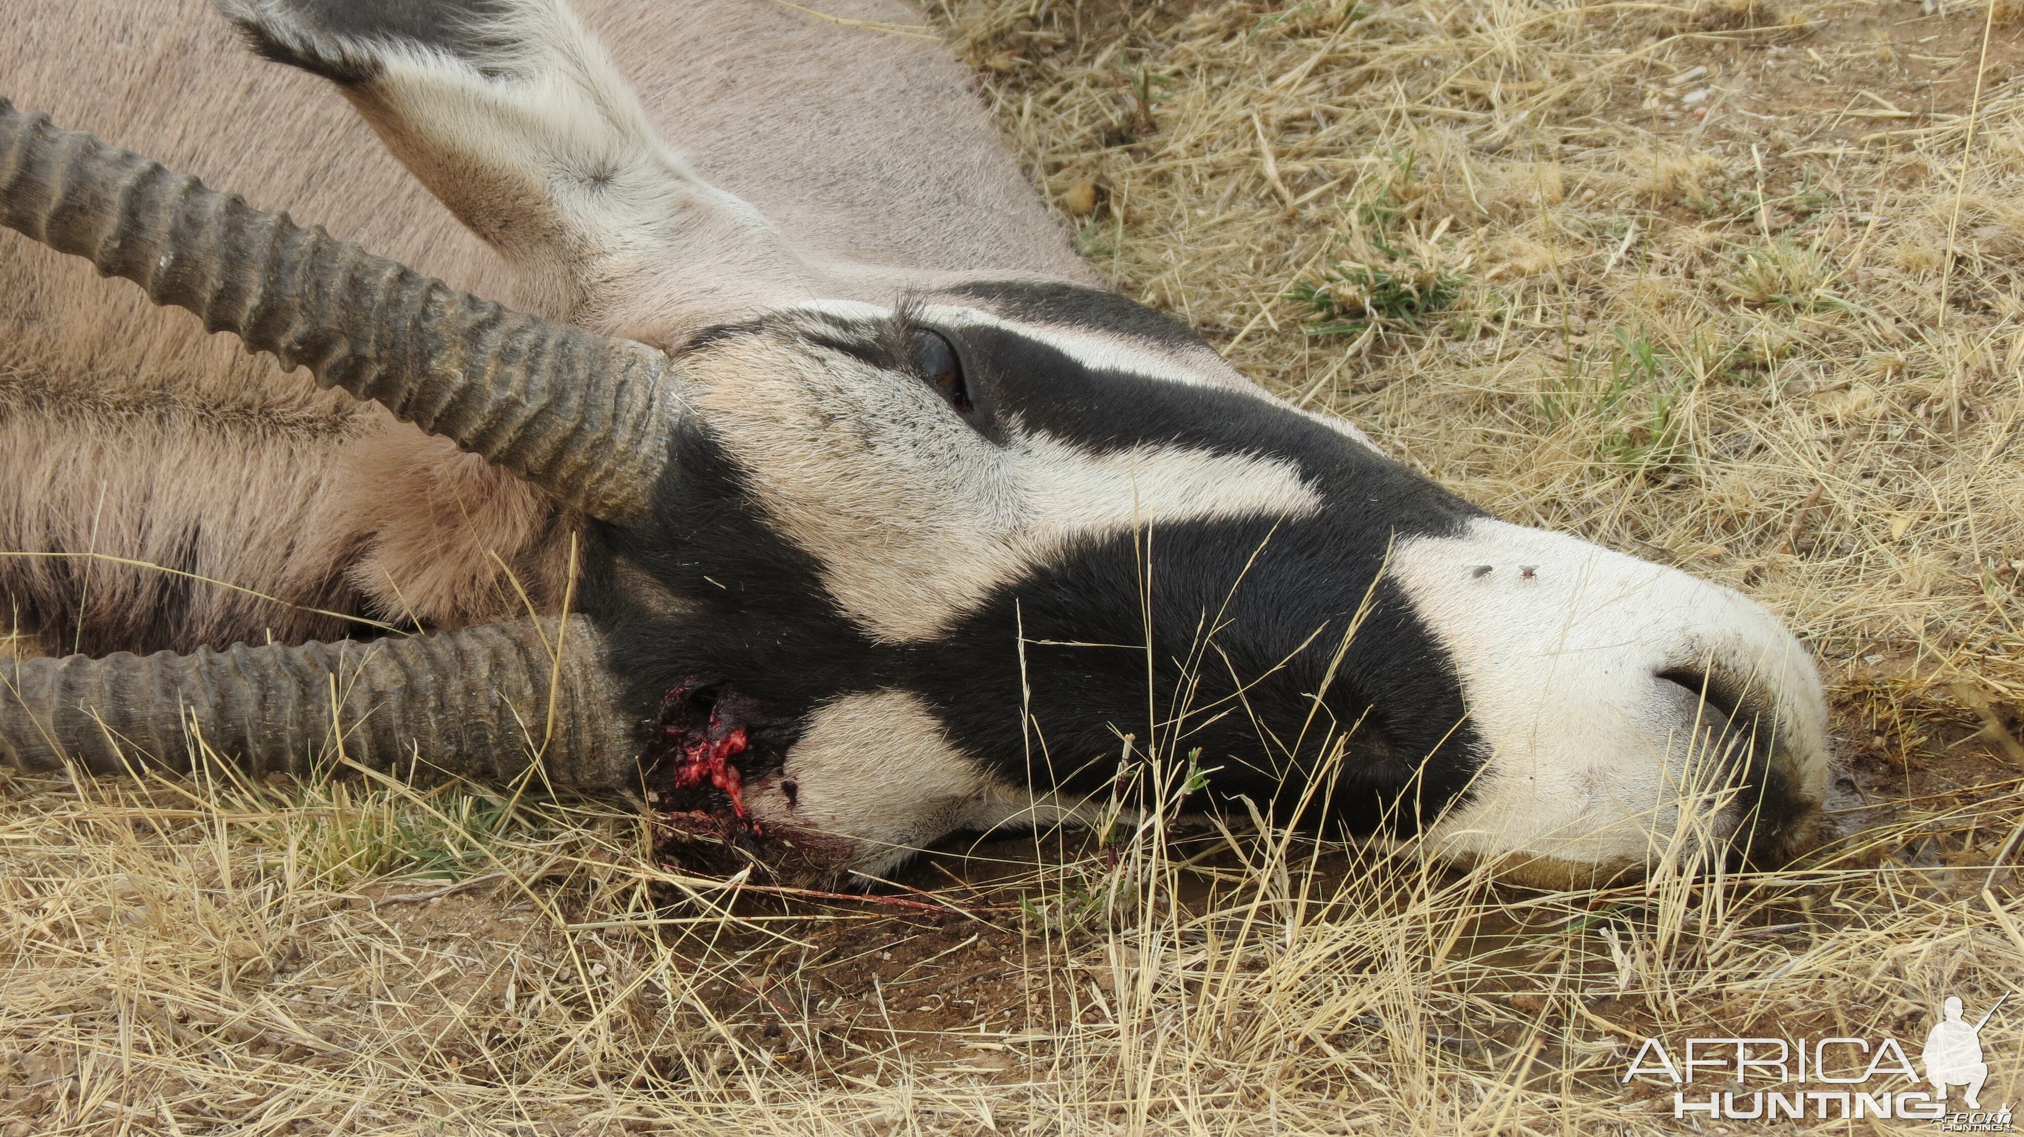
MULTIPOLYGON (((826 10, 917 24, 882 0, 826 10)), ((559 287, 551 247, 520 263, 490 249, 332 85, 253 57, 206 0, 14 0, 0 95, 451 285, 656 344, 802 297, 1091 279, 937 42, 771 0, 581 14, 660 138, 763 212, 791 263, 741 263, 725 273, 737 287, 690 285, 674 308, 656 269, 694 281, 710 267, 694 247, 644 267, 656 251, 619 251, 591 273, 638 279, 625 287, 597 289, 583 265, 579 287, 559 287), (629 310, 634 295, 652 303, 629 310)), ((482 176, 443 170, 437 188, 484 192, 482 176)), ((737 259, 745 245, 702 247, 737 259)), ((30 651, 344 635, 332 613, 451 627, 524 611, 508 573, 553 609, 571 524, 447 441, 0 233, 0 621, 30 651)))

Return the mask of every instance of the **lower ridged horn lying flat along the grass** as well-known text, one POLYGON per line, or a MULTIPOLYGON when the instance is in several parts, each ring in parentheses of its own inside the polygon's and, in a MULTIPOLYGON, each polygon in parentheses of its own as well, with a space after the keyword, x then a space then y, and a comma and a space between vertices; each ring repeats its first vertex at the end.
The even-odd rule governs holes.
POLYGON ((557 785, 615 789, 638 779, 617 698, 603 641, 581 615, 364 643, 10 660, 0 664, 0 759, 186 771, 200 738, 253 775, 308 775, 338 759, 409 773, 419 757, 510 781, 538 753, 557 785))

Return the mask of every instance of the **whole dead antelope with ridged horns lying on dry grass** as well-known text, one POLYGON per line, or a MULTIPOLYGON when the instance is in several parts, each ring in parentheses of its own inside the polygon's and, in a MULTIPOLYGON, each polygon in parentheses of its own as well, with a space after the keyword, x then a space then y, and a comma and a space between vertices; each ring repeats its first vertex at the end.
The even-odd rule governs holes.
POLYGON ((826 8, 10 2, 117 146, 0 111, 0 753, 538 757, 814 874, 1188 761, 1532 878, 1805 846, 1769 613, 1265 395, 826 8))

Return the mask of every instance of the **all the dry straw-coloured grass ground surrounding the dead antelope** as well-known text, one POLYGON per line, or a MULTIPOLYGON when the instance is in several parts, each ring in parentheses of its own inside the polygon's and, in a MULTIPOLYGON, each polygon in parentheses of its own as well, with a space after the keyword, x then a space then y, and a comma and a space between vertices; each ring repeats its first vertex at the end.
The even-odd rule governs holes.
POLYGON ((1152 823, 893 906, 670 874, 587 803, 16 779, 0 1133, 1660 1133, 1646 1034, 1986 1008, 2024 975, 2024 83, 2008 6, 1931 8, 939 14, 1119 287, 1801 629, 1852 761, 1818 864, 1538 894, 1152 823))

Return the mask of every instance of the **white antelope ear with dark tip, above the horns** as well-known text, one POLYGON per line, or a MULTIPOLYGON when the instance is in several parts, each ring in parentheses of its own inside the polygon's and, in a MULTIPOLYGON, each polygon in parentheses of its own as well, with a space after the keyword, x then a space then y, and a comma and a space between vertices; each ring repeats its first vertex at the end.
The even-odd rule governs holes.
POLYGON ((387 150, 522 271, 514 299, 532 312, 595 320, 609 303, 595 287, 642 271, 712 314, 806 293, 779 233, 662 144, 555 0, 219 6, 267 59, 336 81, 387 150))

